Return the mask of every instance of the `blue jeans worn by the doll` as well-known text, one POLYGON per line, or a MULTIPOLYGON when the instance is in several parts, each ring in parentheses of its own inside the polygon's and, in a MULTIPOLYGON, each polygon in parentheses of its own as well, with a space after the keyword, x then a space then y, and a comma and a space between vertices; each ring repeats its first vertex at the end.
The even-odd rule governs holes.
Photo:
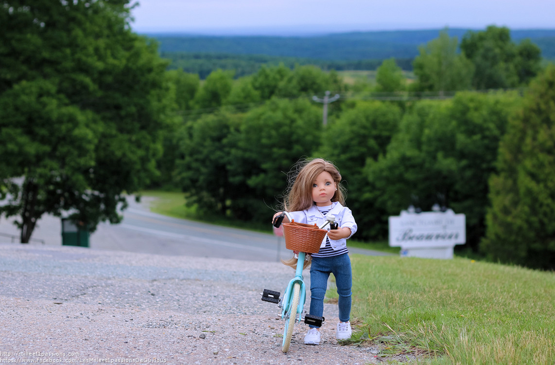
MULTIPOLYGON (((331 257, 312 257, 310 266, 310 314, 322 317, 324 314, 324 296, 330 273, 335 276, 337 294, 339 294, 339 321, 347 322, 351 316, 351 259, 349 254, 331 257)), ((316 326, 309 326, 314 328, 316 326)))

